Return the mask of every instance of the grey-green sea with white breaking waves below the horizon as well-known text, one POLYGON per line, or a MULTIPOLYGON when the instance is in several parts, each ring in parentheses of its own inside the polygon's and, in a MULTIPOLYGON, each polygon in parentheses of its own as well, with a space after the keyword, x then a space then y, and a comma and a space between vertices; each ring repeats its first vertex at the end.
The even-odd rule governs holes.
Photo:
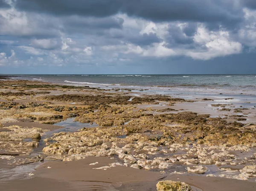
POLYGON ((165 93, 190 92, 203 94, 256 93, 254 75, 16 75, 15 79, 90 86, 100 88, 148 89, 165 93))

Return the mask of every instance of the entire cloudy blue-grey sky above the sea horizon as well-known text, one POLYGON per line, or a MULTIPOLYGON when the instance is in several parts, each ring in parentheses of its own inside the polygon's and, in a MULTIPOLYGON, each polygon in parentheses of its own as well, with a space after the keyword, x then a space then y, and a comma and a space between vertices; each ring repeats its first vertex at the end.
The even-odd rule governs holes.
POLYGON ((256 74, 256 0, 0 0, 0 74, 256 74))

